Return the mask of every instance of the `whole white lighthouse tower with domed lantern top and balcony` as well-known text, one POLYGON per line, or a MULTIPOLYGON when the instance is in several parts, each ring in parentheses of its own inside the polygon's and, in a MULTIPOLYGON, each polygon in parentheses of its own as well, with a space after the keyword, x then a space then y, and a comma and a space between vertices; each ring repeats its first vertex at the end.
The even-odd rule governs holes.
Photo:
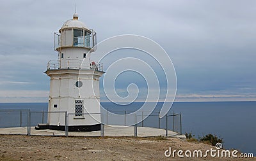
POLYGON ((104 72, 102 64, 90 60, 96 32, 74 13, 54 36, 58 60, 49 61, 45 71, 51 77, 47 128, 65 130, 65 113, 61 111, 67 111, 68 130, 100 130, 99 78, 104 72))

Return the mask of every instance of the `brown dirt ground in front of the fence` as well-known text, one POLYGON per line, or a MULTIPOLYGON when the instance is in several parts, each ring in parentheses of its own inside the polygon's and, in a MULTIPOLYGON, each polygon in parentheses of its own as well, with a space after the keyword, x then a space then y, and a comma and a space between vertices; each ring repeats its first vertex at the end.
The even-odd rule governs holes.
MULTIPOLYGON (((0 160, 244 160, 165 157, 164 151, 210 150, 214 146, 163 137, 0 136, 0 160)), ((214 148, 216 150, 216 148, 214 148)), ((184 153, 183 153, 184 155, 184 153)), ((246 158, 245 160, 256 160, 246 158)))

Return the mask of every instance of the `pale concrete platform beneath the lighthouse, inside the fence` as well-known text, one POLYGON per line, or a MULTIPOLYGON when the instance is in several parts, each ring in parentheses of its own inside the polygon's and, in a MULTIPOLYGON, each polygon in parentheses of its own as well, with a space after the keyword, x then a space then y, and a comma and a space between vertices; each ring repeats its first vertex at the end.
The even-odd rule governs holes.
MULTIPOLYGON (((27 127, 11 127, 11 128, 1 128, 0 134, 27 134, 27 127)), ((31 127, 31 135, 38 136, 65 136, 65 131, 60 130, 35 130, 35 127, 31 127)), ((68 132, 68 136, 87 136, 95 137, 100 136, 100 131, 93 132, 68 132)), ((113 127, 104 125, 104 136, 134 136, 134 127, 113 127)), ((164 129, 156 129, 152 127, 138 127, 137 129, 138 137, 154 137, 154 136, 165 136, 164 129)), ((186 139, 184 134, 179 134, 168 130, 168 137, 177 137, 180 139, 186 139)))

